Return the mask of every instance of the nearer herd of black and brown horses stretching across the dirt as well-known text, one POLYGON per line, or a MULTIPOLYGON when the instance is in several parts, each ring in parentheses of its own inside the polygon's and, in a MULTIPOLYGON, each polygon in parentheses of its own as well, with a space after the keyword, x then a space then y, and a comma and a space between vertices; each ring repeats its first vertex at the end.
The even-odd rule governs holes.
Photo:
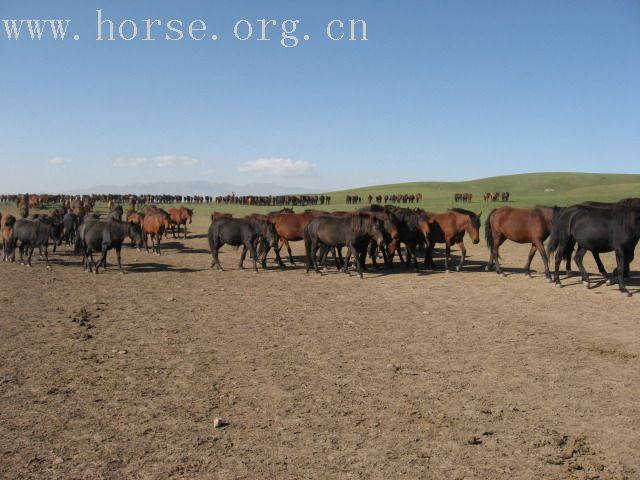
MULTIPOLYGON (((107 266, 107 252, 116 251, 117 263, 122 271, 120 251, 130 241, 132 247, 143 248, 160 255, 163 237, 172 233, 174 238, 187 238, 187 225, 192 222, 193 211, 185 208, 164 210, 148 206, 144 210, 131 210, 124 215, 122 206, 115 205, 106 219, 93 213, 76 215, 60 206, 46 215, 31 215, 16 219, 12 215, 2 218, 0 225, 3 239, 3 259, 15 261, 16 249, 20 262, 31 265, 34 250, 50 266, 47 247, 66 242, 82 255, 82 265, 87 271, 98 273, 107 266), (123 220, 124 217, 124 220, 123 220), (93 254, 99 252, 96 263, 93 254), (25 258, 26 257, 26 258, 25 258)), ((223 245, 242 247, 240 268, 246 254, 253 260, 258 271, 258 262, 267 268, 267 255, 274 252, 274 261, 285 268, 280 252, 286 247, 288 260, 294 265, 291 242, 302 241, 305 247, 306 271, 321 272, 327 268, 331 254, 339 270, 349 273, 353 261, 360 277, 366 268, 367 258, 372 267, 379 268, 381 257, 386 268, 392 269, 397 255, 401 264, 418 268, 418 255, 424 255, 425 268, 434 269, 435 246, 444 244, 444 268, 451 269, 451 247, 457 245, 460 258, 455 270, 462 270, 466 258, 464 237, 473 243, 480 241, 481 213, 476 214, 462 208, 451 208, 437 213, 420 208, 396 205, 369 205, 356 211, 325 212, 307 209, 294 212, 283 208, 270 214, 251 214, 235 218, 230 214, 214 212, 207 232, 211 251, 212 268, 222 269, 218 252, 223 245), (403 248, 404 247, 404 252, 403 248), (343 257, 343 249, 346 256, 343 257)), ((500 246, 511 240, 531 244, 525 263, 525 275, 531 276, 531 261, 536 252, 542 257, 547 281, 560 281, 560 265, 566 261, 565 270, 571 274, 571 257, 578 266, 583 282, 589 286, 589 275, 584 267, 586 252, 592 252, 599 272, 607 284, 617 282, 620 291, 629 296, 625 279, 629 276, 629 265, 634 258, 635 247, 640 238, 640 198, 629 198, 613 203, 585 202, 570 207, 536 206, 513 208, 503 206, 489 213, 484 223, 484 234, 489 249, 489 262, 485 269, 504 276, 499 259, 500 246), (548 240, 545 247, 545 241, 548 240), (615 252, 616 268, 612 276, 605 270, 600 254, 615 252), (553 273, 549 268, 549 257, 555 255, 553 273)))

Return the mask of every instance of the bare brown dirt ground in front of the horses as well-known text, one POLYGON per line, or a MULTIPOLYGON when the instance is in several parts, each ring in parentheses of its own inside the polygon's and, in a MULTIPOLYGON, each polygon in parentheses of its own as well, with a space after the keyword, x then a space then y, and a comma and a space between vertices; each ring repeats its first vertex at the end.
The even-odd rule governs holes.
POLYGON ((461 273, 219 272, 205 230, 127 275, 0 265, 2 478, 640 478, 638 262, 629 299, 526 279, 513 244, 506 278, 483 245, 461 273))

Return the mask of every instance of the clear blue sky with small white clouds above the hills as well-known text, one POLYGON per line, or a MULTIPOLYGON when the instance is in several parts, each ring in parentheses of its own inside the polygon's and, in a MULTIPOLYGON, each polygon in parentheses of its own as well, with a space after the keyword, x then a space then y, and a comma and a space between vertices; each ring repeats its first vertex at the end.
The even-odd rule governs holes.
POLYGON ((0 19, 29 18, 70 19, 80 39, 0 25, 4 191, 640 172, 637 0, 0 1, 0 19), (208 36, 98 42, 97 9, 116 28, 203 19, 208 36), (310 40, 233 37, 261 18, 299 19, 310 40), (351 18, 368 41, 326 37, 351 18))

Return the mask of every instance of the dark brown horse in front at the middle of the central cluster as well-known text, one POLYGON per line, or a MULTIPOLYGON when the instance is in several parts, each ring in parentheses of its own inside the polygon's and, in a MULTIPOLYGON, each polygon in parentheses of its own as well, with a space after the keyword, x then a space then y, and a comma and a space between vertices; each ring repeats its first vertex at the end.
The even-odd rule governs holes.
POLYGON ((363 247, 366 251, 370 238, 373 238, 378 244, 383 242, 384 237, 381 230, 382 222, 364 213, 340 217, 326 215, 310 221, 304 228, 307 273, 312 265, 314 270, 320 273, 316 256, 319 246, 323 246, 325 249, 348 247, 349 250, 343 265, 343 271, 345 273, 349 272, 349 259, 353 255, 358 276, 363 278, 363 265, 359 253, 363 247))

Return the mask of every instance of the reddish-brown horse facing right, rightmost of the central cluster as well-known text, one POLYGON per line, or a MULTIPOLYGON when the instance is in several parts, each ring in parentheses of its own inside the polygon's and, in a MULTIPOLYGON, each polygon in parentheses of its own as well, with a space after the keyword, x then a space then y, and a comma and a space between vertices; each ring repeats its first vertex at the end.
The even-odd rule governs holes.
POLYGON ((451 245, 457 244, 460 249, 460 263, 456 270, 462 270, 464 259, 467 256, 467 249, 464 246, 465 232, 471 237, 473 243, 480 241, 480 215, 463 208, 452 208, 444 213, 428 212, 429 215, 429 245, 424 257, 424 264, 429 268, 434 268, 433 249, 436 243, 444 243, 446 252, 444 257, 444 268, 449 272, 449 258, 451 257, 451 245))

